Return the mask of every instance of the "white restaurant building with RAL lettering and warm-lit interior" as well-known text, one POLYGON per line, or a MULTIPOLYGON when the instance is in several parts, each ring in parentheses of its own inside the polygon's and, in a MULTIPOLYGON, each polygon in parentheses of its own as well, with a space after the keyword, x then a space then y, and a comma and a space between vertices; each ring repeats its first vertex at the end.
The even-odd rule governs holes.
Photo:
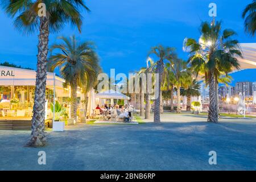
MULTIPOLYGON (((0 117, 31 118, 34 105, 36 71, 0 66, 0 117)), ((63 87, 62 78, 47 73, 46 111, 51 115, 50 105, 55 100, 67 104, 69 90, 63 87), (55 92, 54 92, 55 91, 55 92)))

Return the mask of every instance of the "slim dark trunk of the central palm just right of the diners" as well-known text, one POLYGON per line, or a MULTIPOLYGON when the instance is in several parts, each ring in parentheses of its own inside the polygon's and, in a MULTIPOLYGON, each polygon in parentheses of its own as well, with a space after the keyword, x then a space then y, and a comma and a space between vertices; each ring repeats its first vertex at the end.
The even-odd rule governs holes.
POLYGON ((162 81, 162 71, 163 71, 163 61, 158 61, 158 65, 156 67, 156 73, 159 74, 158 77, 158 97, 155 100, 154 106, 154 123, 160 123, 160 93, 161 91, 161 81, 162 81))

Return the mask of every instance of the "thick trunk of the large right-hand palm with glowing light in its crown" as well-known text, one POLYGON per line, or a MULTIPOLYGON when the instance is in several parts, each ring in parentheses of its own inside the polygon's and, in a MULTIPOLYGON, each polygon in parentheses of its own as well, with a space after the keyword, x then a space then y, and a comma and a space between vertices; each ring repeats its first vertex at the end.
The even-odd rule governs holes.
POLYGON ((212 72, 209 72, 209 114, 208 114, 208 121, 209 122, 218 122, 218 113, 216 110, 216 90, 215 90, 215 78, 212 72))

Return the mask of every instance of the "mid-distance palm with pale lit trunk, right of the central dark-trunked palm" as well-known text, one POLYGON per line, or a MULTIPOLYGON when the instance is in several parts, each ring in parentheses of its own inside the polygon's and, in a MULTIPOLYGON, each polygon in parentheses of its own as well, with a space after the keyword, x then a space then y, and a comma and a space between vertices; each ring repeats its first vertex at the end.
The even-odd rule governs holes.
POLYGON ((177 89, 177 113, 181 113, 180 88, 186 88, 191 83, 191 71, 187 63, 181 59, 174 59, 174 64, 167 63, 174 74, 174 86, 177 89))

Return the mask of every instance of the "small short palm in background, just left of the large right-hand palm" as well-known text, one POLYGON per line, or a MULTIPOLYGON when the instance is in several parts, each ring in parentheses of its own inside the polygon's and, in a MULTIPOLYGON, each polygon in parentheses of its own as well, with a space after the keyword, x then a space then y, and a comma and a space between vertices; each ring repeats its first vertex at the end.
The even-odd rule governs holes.
POLYGON ((200 96, 200 82, 193 79, 191 84, 188 85, 188 88, 181 90, 181 96, 187 97, 187 111, 191 110, 191 97, 192 96, 200 96))

